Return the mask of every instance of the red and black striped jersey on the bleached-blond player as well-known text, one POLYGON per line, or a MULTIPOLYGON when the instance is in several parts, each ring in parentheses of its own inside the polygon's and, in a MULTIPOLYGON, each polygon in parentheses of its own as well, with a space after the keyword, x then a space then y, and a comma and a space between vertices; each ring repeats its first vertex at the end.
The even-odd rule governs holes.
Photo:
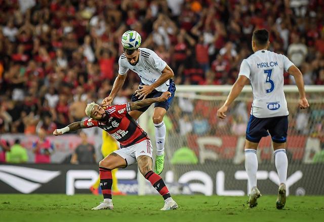
POLYGON ((144 130, 128 114, 130 111, 130 103, 108 106, 105 108, 107 113, 105 122, 90 118, 84 121, 84 126, 86 128, 99 127, 103 129, 120 143, 120 148, 149 139, 144 130))

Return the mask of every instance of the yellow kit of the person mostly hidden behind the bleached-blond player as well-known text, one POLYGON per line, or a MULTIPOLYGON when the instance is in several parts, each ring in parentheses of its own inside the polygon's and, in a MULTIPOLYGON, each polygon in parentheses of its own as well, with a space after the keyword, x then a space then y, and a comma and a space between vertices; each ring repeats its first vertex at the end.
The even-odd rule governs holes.
MULTIPOLYGON (((111 137, 106 131, 102 131, 102 145, 101 145, 101 153, 103 157, 105 158, 110 153, 118 149, 118 144, 116 140, 111 137)), ((112 174, 112 191, 118 192, 118 180, 116 177, 118 169, 114 169, 111 171, 112 174)), ((98 189, 100 186, 100 178, 96 181, 96 183, 93 185, 93 188, 98 189)))

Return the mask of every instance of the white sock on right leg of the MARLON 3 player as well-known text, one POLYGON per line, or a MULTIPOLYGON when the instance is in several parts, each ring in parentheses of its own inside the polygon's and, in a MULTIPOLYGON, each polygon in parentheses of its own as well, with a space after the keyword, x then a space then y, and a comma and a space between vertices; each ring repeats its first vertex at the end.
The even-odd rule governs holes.
POLYGON ((274 151, 274 163, 275 168, 277 169, 280 184, 286 184, 288 169, 286 149, 277 149, 274 151))

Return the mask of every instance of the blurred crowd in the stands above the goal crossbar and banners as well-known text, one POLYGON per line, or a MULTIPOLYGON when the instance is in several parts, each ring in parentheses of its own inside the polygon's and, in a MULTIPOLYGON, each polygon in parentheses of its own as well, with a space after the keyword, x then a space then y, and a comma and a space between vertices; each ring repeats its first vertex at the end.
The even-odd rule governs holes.
MULTIPOLYGON (((51 134, 82 120, 87 102, 109 94, 129 29, 170 65, 176 84, 232 84, 258 28, 306 84, 324 84, 323 1, 0 0, 0 10, 0 133, 51 134)), ((114 103, 138 83, 130 73, 114 103)))

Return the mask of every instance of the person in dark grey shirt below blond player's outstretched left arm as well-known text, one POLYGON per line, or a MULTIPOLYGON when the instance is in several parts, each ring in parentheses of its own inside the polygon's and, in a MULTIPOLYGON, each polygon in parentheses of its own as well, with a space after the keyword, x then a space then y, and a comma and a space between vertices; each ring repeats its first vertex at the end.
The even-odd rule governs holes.
POLYGON ((91 164, 96 162, 95 147, 88 142, 87 134, 80 132, 82 142, 75 148, 71 158, 72 164, 91 164))

